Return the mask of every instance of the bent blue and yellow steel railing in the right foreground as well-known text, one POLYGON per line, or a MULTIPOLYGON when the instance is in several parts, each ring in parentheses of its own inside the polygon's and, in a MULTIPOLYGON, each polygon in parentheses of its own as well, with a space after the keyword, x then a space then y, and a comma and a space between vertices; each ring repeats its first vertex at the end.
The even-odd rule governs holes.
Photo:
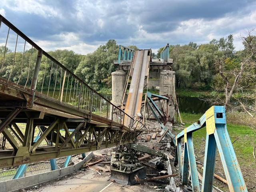
POLYGON ((188 185, 188 175, 190 172, 193 192, 212 191, 217 148, 229 190, 234 192, 247 192, 244 178, 228 135, 224 106, 212 106, 198 122, 185 128, 176 136, 175 161, 178 162, 179 165, 182 184, 188 185), (202 180, 202 188, 200 189, 192 133, 204 127, 206 127, 206 144, 203 176, 200 179, 202 180), (183 150, 182 138, 184 139, 183 150))

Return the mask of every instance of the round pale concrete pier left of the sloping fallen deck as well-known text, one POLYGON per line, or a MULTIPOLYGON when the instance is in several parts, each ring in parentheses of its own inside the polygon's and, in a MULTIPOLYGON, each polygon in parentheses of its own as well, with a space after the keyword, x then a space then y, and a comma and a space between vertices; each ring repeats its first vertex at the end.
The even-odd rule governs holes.
POLYGON ((122 93, 126 81, 126 73, 117 70, 111 73, 112 76, 112 103, 116 106, 122 104, 122 93))

